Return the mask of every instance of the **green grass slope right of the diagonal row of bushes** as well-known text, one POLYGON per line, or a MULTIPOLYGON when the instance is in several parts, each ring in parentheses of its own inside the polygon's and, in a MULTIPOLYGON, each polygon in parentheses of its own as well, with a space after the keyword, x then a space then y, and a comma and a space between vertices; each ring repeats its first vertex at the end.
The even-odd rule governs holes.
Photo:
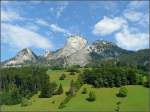
POLYGON ((95 111, 114 111, 116 103, 121 102, 121 111, 148 111, 148 89, 142 86, 127 86, 128 96, 126 98, 116 97, 118 88, 92 88, 84 85, 76 97, 72 98, 64 110, 95 110, 95 111), (86 98, 88 94, 81 94, 82 88, 86 87, 88 91, 94 91, 96 101, 88 102, 86 98))

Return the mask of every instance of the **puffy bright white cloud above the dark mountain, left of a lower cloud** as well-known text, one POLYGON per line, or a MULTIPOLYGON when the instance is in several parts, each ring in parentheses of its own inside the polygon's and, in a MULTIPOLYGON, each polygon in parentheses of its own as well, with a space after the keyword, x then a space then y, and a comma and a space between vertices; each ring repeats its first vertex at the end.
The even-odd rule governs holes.
POLYGON ((104 16, 102 20, 95 24, 93 34, 95 35, 108 35, 118 31, 126 25, 126 21, 121 17, 108 18, 104 16))

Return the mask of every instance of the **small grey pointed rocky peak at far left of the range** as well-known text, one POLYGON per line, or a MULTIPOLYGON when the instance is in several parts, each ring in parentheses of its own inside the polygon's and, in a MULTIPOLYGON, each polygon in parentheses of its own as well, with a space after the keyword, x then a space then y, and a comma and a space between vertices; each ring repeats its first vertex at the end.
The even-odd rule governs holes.
POLYGON ((20 52, 18 52, 15 57, 5 61, 4 66, 16 67, 16 66, 27 65, 29 63, 36 62, 37 59, 38 57, 31 49, 25 48, 20 52))

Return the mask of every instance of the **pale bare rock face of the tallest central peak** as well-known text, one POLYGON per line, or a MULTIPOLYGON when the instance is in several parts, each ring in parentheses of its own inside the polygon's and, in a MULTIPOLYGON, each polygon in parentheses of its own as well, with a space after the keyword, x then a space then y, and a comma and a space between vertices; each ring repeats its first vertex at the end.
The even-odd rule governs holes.
POLYGON ((64 66, 70 64, 85 65, 87 63, 87 40, 80 36, 70 36, 62 49, 48 53, 48 60, 64 59, 64 66))

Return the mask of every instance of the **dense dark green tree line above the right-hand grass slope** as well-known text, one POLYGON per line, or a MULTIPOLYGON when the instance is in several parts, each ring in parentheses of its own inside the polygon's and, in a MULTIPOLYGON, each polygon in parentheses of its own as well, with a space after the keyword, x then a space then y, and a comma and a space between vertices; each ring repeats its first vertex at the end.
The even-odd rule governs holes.
POLYGON ((148 75, 128 67, 87 68, 81 74, 81 78, 84 83, 92 84, 94 87, 120 87, 136 84, 148 86, 148 75))

